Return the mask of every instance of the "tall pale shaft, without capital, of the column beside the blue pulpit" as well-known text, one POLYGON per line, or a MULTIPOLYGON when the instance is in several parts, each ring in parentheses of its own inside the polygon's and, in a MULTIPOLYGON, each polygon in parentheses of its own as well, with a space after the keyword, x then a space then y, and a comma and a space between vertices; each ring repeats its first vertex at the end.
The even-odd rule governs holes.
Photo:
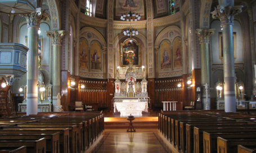
POLYGON ((38 105, 38 26, 28 27, 28 72, 26 115, 37 114, 38 105))

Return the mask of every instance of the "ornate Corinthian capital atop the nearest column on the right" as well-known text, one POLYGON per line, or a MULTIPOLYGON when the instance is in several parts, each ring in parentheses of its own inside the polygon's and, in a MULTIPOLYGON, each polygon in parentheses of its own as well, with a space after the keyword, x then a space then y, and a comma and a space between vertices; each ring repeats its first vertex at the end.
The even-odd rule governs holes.
POLYGON ((242 12, 243 6, 217 6, 213 12, 213 18, 221 20, 221 25, 233 25, 233 17, 242 12))

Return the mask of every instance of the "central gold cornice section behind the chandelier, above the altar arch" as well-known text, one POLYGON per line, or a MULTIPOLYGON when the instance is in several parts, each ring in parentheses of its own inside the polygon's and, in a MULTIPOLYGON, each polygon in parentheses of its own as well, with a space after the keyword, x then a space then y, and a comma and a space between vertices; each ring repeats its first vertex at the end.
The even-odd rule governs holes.
POLYGON ((146 29, 147 26, 147 20, 142 21, 114 21, 114 29, 124 29, 127 27, 132 27, 134 29, 146 29))

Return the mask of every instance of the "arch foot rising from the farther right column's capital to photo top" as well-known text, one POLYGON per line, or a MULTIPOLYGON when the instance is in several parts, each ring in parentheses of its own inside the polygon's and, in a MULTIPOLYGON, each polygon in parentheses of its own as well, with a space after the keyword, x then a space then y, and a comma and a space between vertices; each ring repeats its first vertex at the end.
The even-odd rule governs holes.
POLYGON ((201 29, 209 29, 210 27, 210 7, 212 0, 203 0, 200 8, 200 25, 201 29))

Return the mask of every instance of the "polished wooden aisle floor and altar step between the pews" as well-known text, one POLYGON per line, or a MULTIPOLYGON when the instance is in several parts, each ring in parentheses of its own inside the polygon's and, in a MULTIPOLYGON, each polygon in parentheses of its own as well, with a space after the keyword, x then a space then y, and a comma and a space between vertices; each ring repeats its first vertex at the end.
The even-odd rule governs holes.
POLYGON ((142 117, 135 117, 133 120, 136 132, 127 132, 129 121, 126 118, 120 118, 119 114, 105 114, 105 131, 95 146, 87 152, 175 152, 176 149, 168 142, 166 138, 158 131, 158 122, 156 113, 142 114, 142 117), (152 122, 152 123, 150 123, 152 122), (127 123, 126 125, 124 123, 127 123), (147 124, 147 127, 143 128, 147 124), (111 125, 111 128, 109 128, 111 125), (122 128, 122 125, 125 128, 122 128), (151 126, 150 126, 151 125, 151 126), (151 128, 150 128, 151 127, 151 128))

